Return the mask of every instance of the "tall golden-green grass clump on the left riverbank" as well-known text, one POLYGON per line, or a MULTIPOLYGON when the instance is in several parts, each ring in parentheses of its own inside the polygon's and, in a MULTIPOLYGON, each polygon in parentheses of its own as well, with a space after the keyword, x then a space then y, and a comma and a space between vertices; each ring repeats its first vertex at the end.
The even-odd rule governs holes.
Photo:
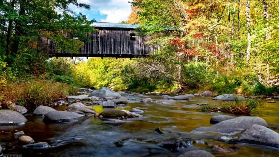
POLYGON ((11 103, 32 108, 37 105, 50 105, 66 95, 74 95, 77 89, 71 85, 45 80, 29 80, 26 82, 8 82, 0 91, 0 103, 7 108, 11 103))

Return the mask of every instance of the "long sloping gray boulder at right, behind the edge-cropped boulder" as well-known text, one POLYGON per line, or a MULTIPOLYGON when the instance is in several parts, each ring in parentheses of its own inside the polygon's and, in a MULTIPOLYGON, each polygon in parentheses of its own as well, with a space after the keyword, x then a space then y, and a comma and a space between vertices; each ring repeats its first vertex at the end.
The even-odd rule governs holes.
POLYGON ((191 133, 218 133, 222 135, 235 135, 251 128, 254 124, 267 127, 267 123, 257 116, 240 116, 234 119, 222 121, 210 127, 200 127, 191 131, 191 133))

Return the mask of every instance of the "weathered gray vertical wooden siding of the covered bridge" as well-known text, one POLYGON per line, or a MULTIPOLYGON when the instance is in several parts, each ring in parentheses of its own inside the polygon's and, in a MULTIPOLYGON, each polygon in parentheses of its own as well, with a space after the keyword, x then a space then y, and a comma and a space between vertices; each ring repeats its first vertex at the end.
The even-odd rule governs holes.
MULTIPOLYGON (((47 38, 42 38, 42 43, 48 48, 45 50, 51 56, 90 56, 96 57, 99 56, 113 56, 121 57, 125 56, 141 56, 147 55, 150 52, 158 49, 158 46, 146 45, 145 42, 151 40, 150 36, 136 36, 136 40, 130 40, 130 34, 136 33, 134 30, 99 30, 92 33, 87 33, 85 36, 88 36, 91 42, 85 42, 83 39, 79 39, 84 42, 84 46, 79 48, 79 53, 71 54, 66 51, 57 51, 57 44, 52 42, 47 38)), ((65 35, 69 38, 72 38, 72 35, 65 32, 65 35)))

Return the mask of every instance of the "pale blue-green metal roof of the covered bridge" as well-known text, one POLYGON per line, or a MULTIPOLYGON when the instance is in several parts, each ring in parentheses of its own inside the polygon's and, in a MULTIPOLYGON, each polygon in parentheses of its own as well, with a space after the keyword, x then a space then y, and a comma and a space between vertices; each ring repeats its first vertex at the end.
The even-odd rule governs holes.
POLYGON ((135 29, 139 27, 138 24, 129 24, 129 23, 109 23, 109 22, 94 22, 92 24, 94 27, 105 27, 105 28, 131 28, 135 29))

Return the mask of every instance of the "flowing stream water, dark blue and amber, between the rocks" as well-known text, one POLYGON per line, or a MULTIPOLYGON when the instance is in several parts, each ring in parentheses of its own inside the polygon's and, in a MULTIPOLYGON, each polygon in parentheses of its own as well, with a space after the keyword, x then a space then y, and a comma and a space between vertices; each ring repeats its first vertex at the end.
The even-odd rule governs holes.
MULTIPOLYGON (((206 144, 193 146, 171 152, 157 146, 158 142, 171 137, 202 139, 209 145, 231 145, 220 141, 217 134, 191 134, 189 131, 202 126, 211 126, 210 118, 220 113, 202 113, 183 105, 195 103, 221 104, 223 101, 212 100, 212 97, 194 97, 190 101, 177 101, 174 105, 141 103, 143 98, 162 99, 159 96, 129 96, 133 98, 123 108, 144 110, 143 117, 123 120, 121 122, 102 121, 93 116, 84 117, 77 122, 63 124, 44 124, 42 117, 27 114, 28 122, 22 126, 0 126, 0 144, 5 153, 23 154, 23 156, 176 156, 193 149, 204 149, 215 156, 279 156, 279 149, 260 145, 239 144, 235 152, 222 153, 213 150, 206 144), (154 130, 160 127, 164 134, 154 130), (22 150, 18 142, 11 138, 17 131, 32 137, 35 142, 48 142, 51 146, 46 150, 22 150), (122 146, 115 142, 122 140, 122 146)), ((255 116, 262 117, 270 129, 279 133, 279 101, 269 103, 255 116)), ((100 106, 94 107, 102 112, 100 106)), ((64 110, 65 106, 56 108, 64 110)))

